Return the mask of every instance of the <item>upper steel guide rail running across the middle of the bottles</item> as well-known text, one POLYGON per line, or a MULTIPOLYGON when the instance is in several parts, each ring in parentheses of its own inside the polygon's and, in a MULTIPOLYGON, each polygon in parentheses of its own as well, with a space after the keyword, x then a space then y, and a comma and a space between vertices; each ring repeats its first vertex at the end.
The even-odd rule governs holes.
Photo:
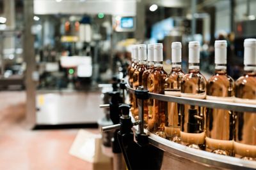
MULTIPOLYGON (((127 86, 127 90, 131 93, 134 93, 134 89, 127 86)), ((204 99, 192 99, 186 97, 175 97, 175 96, 164 96, 163 94, 153 94, 149 93, 149 97, 157 99, 160 101, 175 102, 180 104, 190 104, 196 106, 204 106, 207 108, 220 108, 224 110, 233 110, 233 111, 248 111, 256 113, 256 105, 254 104, 241 104, 241 103, 230 103, 224 101, 211 101, 204 99)))

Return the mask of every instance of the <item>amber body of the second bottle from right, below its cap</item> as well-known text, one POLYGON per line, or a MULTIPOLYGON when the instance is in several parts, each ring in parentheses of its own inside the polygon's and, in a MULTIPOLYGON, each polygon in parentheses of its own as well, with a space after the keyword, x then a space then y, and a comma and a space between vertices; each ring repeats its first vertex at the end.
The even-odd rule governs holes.
MULTIPOLYGON (((216 69, 207 81, 207 99, 232 102, 234 80, 226 69, 216 69)), ((221 155, 233 154, 234 115, 232 111, 207 108, 206 111, 206 150, 221 155)))

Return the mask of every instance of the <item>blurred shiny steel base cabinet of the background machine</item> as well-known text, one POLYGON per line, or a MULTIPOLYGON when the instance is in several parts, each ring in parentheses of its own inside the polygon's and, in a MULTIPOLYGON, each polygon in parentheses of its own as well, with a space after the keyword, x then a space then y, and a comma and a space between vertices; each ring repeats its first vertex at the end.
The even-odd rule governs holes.
POLYGON ((36 124, 95 124, 104 117, 98 92, 55 92, 36 96, 36 124))

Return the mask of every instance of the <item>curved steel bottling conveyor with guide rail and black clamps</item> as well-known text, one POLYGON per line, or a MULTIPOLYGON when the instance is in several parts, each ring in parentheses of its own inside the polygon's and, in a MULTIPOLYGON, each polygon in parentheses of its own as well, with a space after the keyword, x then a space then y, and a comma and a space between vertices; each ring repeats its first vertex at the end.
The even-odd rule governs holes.
POLYGON ((196 150, 156 136, 145 129, 143 122, 143 101, 147 99, 246 111, 252 114, 256 113, 255 105, 153 94, 147 90, 134 90, 124 81, 121 81, 119 87, 119 89, 114 89, 116 92, 110 92, 109 104, 101 105, 102 108, 109 108, 113 122, 113 125, 102 127, 102 134, 113 132, 112 151, 119 154, 119 159, 113 157, 114 169, 124 168, 122 161, 116 161, 122 160, 120 153, 123 154, 128 169, 256 169, 256 161, 196 150), (129 111, 131 105, 124 104, 125 90, 128 94, 134 94, 138 99, 139 120, 137 121, 129 111))

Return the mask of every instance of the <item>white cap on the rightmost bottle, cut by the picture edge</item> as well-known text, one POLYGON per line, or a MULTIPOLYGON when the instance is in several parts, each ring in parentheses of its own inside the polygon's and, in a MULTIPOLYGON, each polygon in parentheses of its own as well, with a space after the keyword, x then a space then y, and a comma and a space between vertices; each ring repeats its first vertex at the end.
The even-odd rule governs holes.
POLYGON ((244 39, 244 65, 256 65, 256 39, 244 39))

